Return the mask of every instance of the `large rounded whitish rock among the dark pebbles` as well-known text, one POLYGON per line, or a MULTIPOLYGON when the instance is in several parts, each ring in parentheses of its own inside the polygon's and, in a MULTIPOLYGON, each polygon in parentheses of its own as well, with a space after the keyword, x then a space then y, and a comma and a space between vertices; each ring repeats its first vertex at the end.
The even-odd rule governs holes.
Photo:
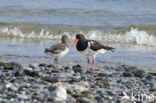
POLYGON ((55 101, 63 101, 67 99, 67 91, 64 87, 58 86, 50 91, 50 96, 55 97, 55 101))

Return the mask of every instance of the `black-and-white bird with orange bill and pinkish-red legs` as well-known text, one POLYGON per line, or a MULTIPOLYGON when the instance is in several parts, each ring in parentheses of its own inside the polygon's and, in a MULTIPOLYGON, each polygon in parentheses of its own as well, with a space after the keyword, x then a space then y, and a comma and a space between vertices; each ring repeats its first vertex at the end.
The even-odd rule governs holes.
POLYGON ((77 50, 87 57, 87 60, 88 60, 87 71, 90 70, 90 68, 89 68, 89 64, 90 64, 89 56, 93 57, 92 71, 94 71, 94 69, 95 69, 95 67, 94 67, 95 57, 98 54, 104 54, 106 51, 113 51, 113 49, 115 49, 113 47, 104 46, 95 40, 88 40, 82 34, 76 35, 76 40, 72 44, 72 47, 75 44, 76 44, 77 50))

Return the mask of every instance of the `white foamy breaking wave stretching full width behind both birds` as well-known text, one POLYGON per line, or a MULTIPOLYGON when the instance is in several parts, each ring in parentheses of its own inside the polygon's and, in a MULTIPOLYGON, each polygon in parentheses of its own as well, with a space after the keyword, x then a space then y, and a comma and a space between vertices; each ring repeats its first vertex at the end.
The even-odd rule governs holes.
MULTIPOLYGON (((131 28, 131 30, 126 31, 124 34, 111 32, 104 33, 96 30, 90 30, 88 32, 79 31, 79 33, 86 34, 88 39, 94 39, 108 43, 156 46, 156 36, 150 35, 144 30, 138 30, 137 28, 131 28)), ((70 37, 70 39, 74 39, 76 33, 73 34, 70 31, 64 31, 62 34, 66 34, 70 37)), ((61 37, 61 35, 58 35, 56 32, 47 31, 45 29, 41 29, 39 32, 32 31, 30 33, 24 33, 18 27, 0 27, 0 37, 58 39, 61 37)))

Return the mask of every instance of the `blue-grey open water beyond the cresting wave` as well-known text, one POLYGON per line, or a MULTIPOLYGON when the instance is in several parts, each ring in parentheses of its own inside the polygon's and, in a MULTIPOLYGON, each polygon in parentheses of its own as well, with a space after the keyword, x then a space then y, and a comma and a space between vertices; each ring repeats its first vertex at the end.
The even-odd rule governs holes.
POLYGON ((0 22, 155 25, 155 5, 155 0, 1 0, 0 22))

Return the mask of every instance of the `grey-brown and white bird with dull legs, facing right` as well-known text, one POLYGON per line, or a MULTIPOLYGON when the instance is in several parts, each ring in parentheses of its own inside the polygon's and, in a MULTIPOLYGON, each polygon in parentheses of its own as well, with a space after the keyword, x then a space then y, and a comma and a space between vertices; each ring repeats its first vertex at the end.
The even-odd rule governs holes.
POLYGON ((62 43, 58 43, 55 45, 52 45, 50 48, 45 49, 45 53, 55 57, 54 59, 54 66, 58 68, 58 59, 66 55, 69 51, 69 46, 68 46, 69 39, 67 35, 62 36, 62 43))

